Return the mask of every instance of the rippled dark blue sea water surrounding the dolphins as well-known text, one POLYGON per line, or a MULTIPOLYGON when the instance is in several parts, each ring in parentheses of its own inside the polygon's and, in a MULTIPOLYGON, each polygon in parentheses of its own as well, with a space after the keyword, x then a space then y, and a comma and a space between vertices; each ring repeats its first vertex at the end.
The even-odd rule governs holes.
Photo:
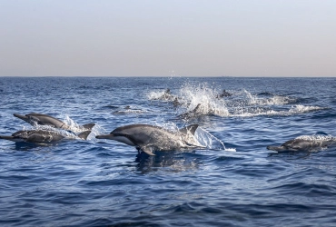
POLYGON ((13 114, 33 112, 96 125, 87 141, 0 141, 0 225, 334 226, 336 148, 266 146, 336 136, 335 91, 336 78, 1 77, 0 134, 31 129, 13 114), (94 137, 131 123, 199 123, 212 143, 150 157, 94 137))

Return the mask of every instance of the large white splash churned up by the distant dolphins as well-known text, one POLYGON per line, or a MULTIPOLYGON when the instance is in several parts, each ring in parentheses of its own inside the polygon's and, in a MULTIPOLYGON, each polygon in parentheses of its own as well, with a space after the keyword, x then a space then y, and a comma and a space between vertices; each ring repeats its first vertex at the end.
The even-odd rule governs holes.
POLYGON ((288 105, 296 101, 296 98, 289 96, 271 93, 254 95, 245 89, 238 92, 231 90, 230 93, 232 95, 229 97, 221 97, 220 92, 209 84, 186 83, 179 90, 178 95, 173 95, 169 90, 165 90, 151 92, 148 97, 151 100, 173 102, 175 107, 178 106, 178 117, 184 121, 204 115, 221 117, 290 116, 326 109, 321 106, 288 105))

